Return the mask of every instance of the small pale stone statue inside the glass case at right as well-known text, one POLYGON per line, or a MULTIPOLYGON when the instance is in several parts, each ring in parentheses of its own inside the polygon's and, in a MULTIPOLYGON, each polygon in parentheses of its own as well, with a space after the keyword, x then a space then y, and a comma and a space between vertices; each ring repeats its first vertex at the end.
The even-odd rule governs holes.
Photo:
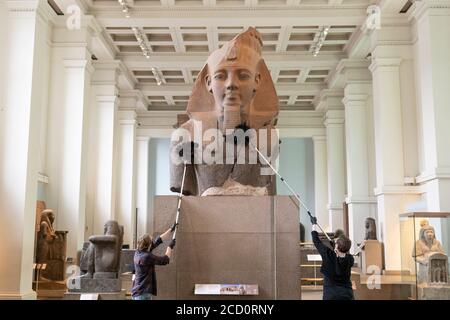
POLYGON ((419 264, 417 278, 419 283, 428 282, 428 266, 430 256, 434 253, 444 254, 441 243, 436 239, 434 228, 424 225, 420 229, 419 240, 413 249, 413 258, 419 264))

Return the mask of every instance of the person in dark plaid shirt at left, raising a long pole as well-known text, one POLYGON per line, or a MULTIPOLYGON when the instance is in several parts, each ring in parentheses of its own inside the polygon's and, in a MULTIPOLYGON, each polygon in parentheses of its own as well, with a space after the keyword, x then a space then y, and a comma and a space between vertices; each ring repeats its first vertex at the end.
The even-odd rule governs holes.
POLYGON ((133 300, 151 300, 152 296, 157 295, 155 265, 166 265, 170 262, 175 239, 170 241, 164 256, 154 255, 152 251, 163 243, 163 240, 168 240, 176 227, 177 223, 174 223, 172 227, 155 239, 148 233, 139 238, 134 254, 135 277, 131 289, 133 300))

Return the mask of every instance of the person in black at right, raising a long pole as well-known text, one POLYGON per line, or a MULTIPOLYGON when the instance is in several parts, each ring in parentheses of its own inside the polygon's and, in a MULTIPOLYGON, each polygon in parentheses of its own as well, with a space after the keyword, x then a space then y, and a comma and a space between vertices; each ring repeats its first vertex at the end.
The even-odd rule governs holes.
POLYGON ((352 242, 345 235, 340 235, 330 249, 322 243, 316 231, 317 218, 310 216, 313 231, 312 240, 322 257, 320 272, 324 275, 323 300, 354 300, 352 282, 350 280, 354 258, 349 253, 352 242))

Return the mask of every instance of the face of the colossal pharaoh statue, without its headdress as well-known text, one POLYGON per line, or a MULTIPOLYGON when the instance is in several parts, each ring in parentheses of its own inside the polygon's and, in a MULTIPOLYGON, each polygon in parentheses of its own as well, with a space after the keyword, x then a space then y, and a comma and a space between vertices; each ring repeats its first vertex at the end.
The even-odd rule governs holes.
POLYGON ((237 119, 245 120, 241 116, 248 116, 250 102, 260 81, 256 68, 239 63, 221 63, 212 67, 206 81, 221 113, 236 112, 239 113, 236 114, 237 119))

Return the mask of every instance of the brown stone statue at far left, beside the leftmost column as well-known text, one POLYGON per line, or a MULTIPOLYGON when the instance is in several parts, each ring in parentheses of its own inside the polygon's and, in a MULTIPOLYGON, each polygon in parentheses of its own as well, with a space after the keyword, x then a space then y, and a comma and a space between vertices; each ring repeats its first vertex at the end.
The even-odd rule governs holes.
POLYGON ((40 280, 64 280, 67 231, 56 231, 53 227, 55 214, 45 209, 40 215, 37 232, 36 263, 46 264, 40 280))

